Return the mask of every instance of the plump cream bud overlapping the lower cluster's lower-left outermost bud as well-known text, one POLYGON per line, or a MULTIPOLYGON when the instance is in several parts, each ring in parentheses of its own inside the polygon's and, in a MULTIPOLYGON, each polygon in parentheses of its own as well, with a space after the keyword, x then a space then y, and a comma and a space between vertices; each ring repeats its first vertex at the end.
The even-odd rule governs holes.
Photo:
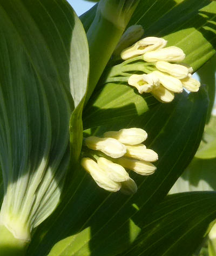
POLYGON ((115 164, 104 157, 98 158, 98 166, 104 170, 107 176, 113 181, 122 182, 127 181, 130 178, 122 165, 115 164))

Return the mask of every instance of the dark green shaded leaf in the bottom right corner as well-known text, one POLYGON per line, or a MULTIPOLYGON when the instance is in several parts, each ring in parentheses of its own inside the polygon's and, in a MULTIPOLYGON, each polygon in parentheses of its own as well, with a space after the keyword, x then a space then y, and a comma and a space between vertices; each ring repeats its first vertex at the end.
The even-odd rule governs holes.
POLYGON ((118 256, 191 256, 216 217, 216 193, 167 196, 145 224, 136 241, 118 256))

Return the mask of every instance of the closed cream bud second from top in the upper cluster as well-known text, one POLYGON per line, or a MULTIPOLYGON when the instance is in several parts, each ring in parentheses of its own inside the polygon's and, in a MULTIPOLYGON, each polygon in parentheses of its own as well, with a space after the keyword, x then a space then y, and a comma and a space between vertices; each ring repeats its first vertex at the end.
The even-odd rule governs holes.
POLYGON ((163 49, 153 50, 152 52, 147 52, 143 55, 143 59, 147 62, 154 61, 183 61, 185 59, 185 54, 183 50, 176 46, 170 46, 163 49))

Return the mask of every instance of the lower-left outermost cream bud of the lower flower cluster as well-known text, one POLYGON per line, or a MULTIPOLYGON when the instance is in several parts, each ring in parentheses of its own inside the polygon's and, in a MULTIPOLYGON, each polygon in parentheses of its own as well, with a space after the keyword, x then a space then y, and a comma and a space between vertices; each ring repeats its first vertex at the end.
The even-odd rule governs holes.
POLYGON ((106 172, 99 168, 98 164, 91 158, 84 157, 81 161, 81 165, 90 173, 100 188, 111 192, 116 192, 121 188, 121 184, 119 182, 112 181, 111 178, 107 176, 106 172))

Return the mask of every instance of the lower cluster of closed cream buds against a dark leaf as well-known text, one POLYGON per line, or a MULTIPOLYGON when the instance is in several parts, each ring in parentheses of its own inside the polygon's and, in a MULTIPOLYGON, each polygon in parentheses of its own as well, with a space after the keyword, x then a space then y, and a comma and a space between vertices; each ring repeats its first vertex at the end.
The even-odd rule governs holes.
POLYGON ((85 138, 87 148, 103 152, 104 155, 99 157, 96 151, 94 159, 83 157, 83 168, 105 190, 136 193, 137 185, 125 169, 141 175, 150 175, 156 170, 151 162, 157 161, 157 153, 142 144, 147 133, 143 129, 130 128, 105 132, 103 136, 85 138))

